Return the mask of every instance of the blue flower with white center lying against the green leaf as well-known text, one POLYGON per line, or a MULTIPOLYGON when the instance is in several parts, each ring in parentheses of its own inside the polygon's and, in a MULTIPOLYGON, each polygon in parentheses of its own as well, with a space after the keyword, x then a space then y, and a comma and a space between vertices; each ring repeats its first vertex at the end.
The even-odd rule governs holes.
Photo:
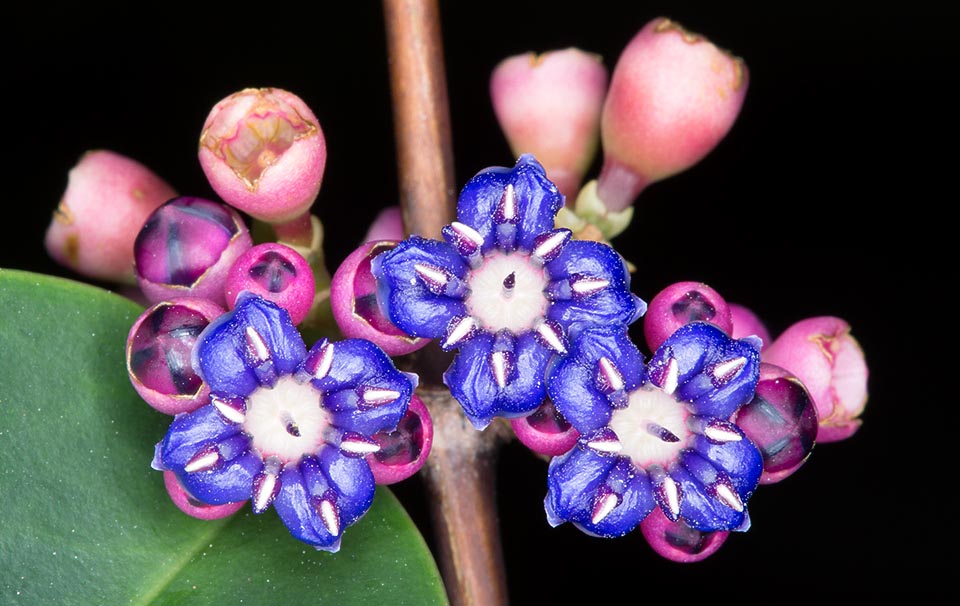
POLYGON ((201 333, 193 366, 211 402, 174 419, 154 467, 209 505, 273 505, 294 537, 337 551, 373 502, 371 436, 396 428, 416 375, 361 339, 308 351, 285 310, 248 293, 201 333))

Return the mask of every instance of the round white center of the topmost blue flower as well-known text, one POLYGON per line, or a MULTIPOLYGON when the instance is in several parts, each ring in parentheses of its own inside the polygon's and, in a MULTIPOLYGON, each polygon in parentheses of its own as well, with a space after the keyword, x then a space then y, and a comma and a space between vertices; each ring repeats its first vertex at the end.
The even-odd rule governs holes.
POLYGON ((467 312, 484 330, 506 328, 520 334, 532 330, 546 313, 546 273, 526 253, 490 253, 470 272, 467 283, 467 312))

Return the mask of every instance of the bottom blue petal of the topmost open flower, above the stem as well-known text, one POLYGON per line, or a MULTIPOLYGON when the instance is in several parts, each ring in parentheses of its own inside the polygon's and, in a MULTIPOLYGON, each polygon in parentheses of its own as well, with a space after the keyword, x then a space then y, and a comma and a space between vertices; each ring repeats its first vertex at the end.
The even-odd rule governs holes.
POLYGON ((534 333, 523 333, 513 341, 516 368, 503 388, 497 384, 489 362, 495 342, 490 333, 467 341, 443 375, 464 414, 478 429, 486 427, 495 416, 510 418, 532 412, 547 395, 545 373, 552 352, 540 344, 534 333))

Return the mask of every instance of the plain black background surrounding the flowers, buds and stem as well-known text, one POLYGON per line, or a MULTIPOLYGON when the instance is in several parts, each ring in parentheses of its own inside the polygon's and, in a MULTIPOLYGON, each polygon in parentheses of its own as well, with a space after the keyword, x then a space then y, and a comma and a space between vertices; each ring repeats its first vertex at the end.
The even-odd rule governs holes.
MULTIPOLYGON (((196 159, 200 128, 214 103, 248 86, 290 90, 320 119, 329 157, 314 212, 335 266, 397 201, 383 15, 379 3, 352 4, 20 7, 2 41, 0 267, 76 277, 49 260, 43 233, 88 149, 213 197, 196 159)), ((848 320, 871 368, 863 428, 761 487, 753 528, 689 565, 663 560, 639 532, 602 540, 550 528, 545 463, 508 446, 498 515, 512 602, 946 595, 957 536, 946 448, 956 390, 941 370, 952 366, 956 315, 952 16, 918 3, 714 4, 442 3, 457 183, 513 162, 487 93, 501 59, 577 46, 612 68, 657 16, 705 34, 747 63, 743 112, 704 161, 641 196, 614 244, 648 301, 701 280, 774 334, 809 316, 848 320)), ((432 540, 419 481, 395 490, 432 540)))

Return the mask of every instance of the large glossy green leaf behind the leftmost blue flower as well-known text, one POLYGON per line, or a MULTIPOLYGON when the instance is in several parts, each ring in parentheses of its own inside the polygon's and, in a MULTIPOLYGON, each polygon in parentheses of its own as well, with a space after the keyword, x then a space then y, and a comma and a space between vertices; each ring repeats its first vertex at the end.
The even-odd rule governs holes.
POLYGON ((339 553, 294 539, 273 510, 202 521, 150 468, 171 417, 130 385, 142 311, 93 286, 0 269, 0 602, 446 603, 437 567, 394 495, 339 553))

